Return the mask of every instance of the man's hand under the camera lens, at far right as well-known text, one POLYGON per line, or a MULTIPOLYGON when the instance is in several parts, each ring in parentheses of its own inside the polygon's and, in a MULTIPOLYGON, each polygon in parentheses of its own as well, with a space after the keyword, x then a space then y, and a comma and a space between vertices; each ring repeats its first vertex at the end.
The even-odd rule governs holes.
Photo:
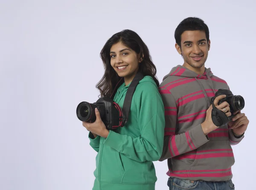
POLYGON ((246 131, 249 120, 244 113, 241 113, 241 111, 235 112, 234 115, 236 116, 232 118, 232 121, 228 123, 228 126, 233 130, 235 135, 240 136, 246 131))

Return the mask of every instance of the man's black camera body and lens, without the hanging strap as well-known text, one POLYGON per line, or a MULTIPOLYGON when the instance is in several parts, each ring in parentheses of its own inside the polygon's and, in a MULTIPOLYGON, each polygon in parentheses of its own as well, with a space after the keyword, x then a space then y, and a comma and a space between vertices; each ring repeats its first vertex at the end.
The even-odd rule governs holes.
MULTIPOLYGON (((230 90, 227 89, 219 89, 215 93, 215 97, 220 95, 226 95, 225 98, 221 99, 218 102, 218 105, 220 105, 222 102, 227 102, 230 105, 230 112, 233 114, 236 111, 241 111, 244 108, 244 98, 240 95, 233 95, 230 90)), ((213 97, 213 99, 215 99, 213 97)))

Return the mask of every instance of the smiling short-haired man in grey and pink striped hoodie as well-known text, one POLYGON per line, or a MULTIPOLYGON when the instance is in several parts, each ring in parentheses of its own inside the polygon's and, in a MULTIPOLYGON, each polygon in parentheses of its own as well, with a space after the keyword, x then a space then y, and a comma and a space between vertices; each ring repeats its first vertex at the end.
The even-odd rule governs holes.
MULTIPOLYGON (((236 111, 224 127, 212 122, 211 97, 218 89, 229 87, 204 66, 210 49, 209 29, 204 21, 184 19, 175 30, 175 40, 184 63, 172 68, 159 87, 166 116, 160 161, 168 159, 168 186, 170 190, 234 189, 231 166, 235 160, 230 145, 244 138, 249 120, 236 111)), ((231 116, 231 105, 218 105, 224 97, 217 96, 214 105, 231 116)))

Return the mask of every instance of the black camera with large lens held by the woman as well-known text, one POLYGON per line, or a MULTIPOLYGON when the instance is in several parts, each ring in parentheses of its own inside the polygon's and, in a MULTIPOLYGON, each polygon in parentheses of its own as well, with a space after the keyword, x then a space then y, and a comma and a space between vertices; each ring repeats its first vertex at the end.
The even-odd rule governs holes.
POLYGON ((110 97, 102 97, 95 103, 81 102, 76 108, 76 116, 80 121, 95 122, 95 108, 99 110, 102 122, 108 130, 121 125, 122 110, 110 97))

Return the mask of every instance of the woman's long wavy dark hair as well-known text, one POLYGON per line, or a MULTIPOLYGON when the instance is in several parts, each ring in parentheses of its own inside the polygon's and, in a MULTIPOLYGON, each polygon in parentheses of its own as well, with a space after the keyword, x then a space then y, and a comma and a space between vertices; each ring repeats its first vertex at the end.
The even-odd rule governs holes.
POLYGON ((149 54, 147 45, 145 45, 143 40, 136 32, 131 30, 123 30, 114 34, 105 43, 104 47, 102 48, 102 51, 100 52, 100 57, 103 61, 105 73, 102 79, 97 83, 96 88, 99 89, 101 96, 111 96, 114 88, 121 79, 121 77, 118 76, 118 74, 110 64, 110 48, 112 47, 112 45, 118 42, 122 42, 123 45, 127 46, 128 48, 131 48, 133 51, 140 55, 140 58, 143 61, 139 64, 139 71, 144 76, 153 77, 158 87, 159 82, 157 77, 155 76, 157 73, 157 69, 151 60, 151 55, 149 54))

